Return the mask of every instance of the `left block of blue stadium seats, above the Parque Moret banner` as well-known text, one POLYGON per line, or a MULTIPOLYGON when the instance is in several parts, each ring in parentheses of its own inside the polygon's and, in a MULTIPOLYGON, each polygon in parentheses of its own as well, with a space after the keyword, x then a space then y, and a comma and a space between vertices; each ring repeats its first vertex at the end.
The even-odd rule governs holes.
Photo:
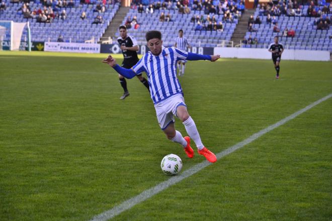
MULTIPOLYGON (((37 0, 38 1, 38 0, 37 0)), ((31 16, 35 18, 24 18, 25 15, 20 10, 23 3, 11 3, 6 0, 7 9, 0 11, 0 20, 14 21, 14 22, 30 22, 31 27, 31 40, 32 41, 57 41, 60 35, 63 36, 64 42, 76 42, 82 43, 87 40, 94 39, 97 43, 102 37, 105 29, 112 21, 115 13, 119 9, 119 4, 106 5, 105 12, 94 12, 96 11, 96 5, 93 4, 80 4, 79 0, 75 0, 73 7, 56 7, 58 1, 54 1, 50 8, 53 10, 55 18, 51 22, 37 22, 38 15, 33 15, 34 11, 38 13, 41 11, 48 10, 50 8, 45 7, 42 3, 30 2, 29 7, 31 9, 31 16), (62 10, 66 11, 66 18, 61 19, 62 10), (81 20, 81 13, 86 13, 86 19, 81 20), (97 16, 102 16, 104 22, 102 24, 92 24, 97 16)), ((69 1, 68 1, 69 2, 69 1)), ((27 33, 23 33, 22 40, 26 40, 27 33)), ((9 36, 6 36, 5 40, 9 40, 9 36)))

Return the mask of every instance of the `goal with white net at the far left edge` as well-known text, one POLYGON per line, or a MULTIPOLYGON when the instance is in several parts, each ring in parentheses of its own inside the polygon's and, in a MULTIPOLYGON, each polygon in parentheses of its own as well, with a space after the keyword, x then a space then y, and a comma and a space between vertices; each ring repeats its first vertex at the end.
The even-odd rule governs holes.
POLYGON ((31 51, 31 32, 29 22, 0 21, 0 27, 6 29, 3 41, 9 42, 9 50, 11 51, 20 50, 23 31, 26 28, 28 50, 31 51))

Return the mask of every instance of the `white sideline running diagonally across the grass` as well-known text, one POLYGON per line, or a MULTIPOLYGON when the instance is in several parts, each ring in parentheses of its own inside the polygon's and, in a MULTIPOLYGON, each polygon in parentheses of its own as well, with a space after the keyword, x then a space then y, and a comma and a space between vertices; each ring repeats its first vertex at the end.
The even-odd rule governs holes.
MULTIPOLYGON (((248 137, 247 139, 235 144, 234 146, 229 147, 228 149, 216 154, 217 158, 220 159, 234 151, 236 151, 237 149, 240 149, 241 147, 255 141, 256 139, 258 139, 259 137, 261 137, 262 135, 272 131, 275 128, 278 128, 279 126, 287 123, 288 121, 296 118, 297 116, 299 116, 300 114, 308 111, 308 109, 314 107, 315 105, 321 103, 324 100, 327 100, 328 98, 332 97, 332 93, 328 94, 327 96, 309 104, 308 106, 304 107, 303 109, 300 109, 300 111, 295 112, 294 114, 288 116, 287 118, 284 118, 283 120, 270 125, 269 127, 261 130, 260 132, 253 134, 252 136, 248 137)), ((101 220, 108 220, 110 218, 113 218, 114 216, 120 214, 121 212, 130 209, 131 207, 133 207, 134 205, 154 196, 155 194, 157 194, 158 192, 180 182, 181 180, 197 173, 198 171, 204 169, 205 167, 211 165, 211 163, 209 163, 208 161, 204 161, 202 163, 196 164, 195 166, 191 167, 190 169, 182 172, 180 175, 178 176, 173 176, 170 179, 163 181, 161 183, 159 183, 158 185, 151 187, 150 189, 147 189, 143 192, 141 192, 140 194, 127 199, 126 201, 122 202, 120 205, 117 205, 115 207, 113 207, 110 210, 107 210, 99 215, 96 215, 95 217, 93 217, 91 220, 92 221, 101 221, 101 220)))

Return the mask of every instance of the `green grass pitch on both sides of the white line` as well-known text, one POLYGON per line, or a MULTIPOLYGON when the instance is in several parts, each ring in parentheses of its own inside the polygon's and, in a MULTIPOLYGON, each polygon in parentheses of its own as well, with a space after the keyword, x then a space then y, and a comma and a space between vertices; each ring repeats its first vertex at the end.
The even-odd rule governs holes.
MULTIPOLYGON (((106 56, 0 52, 0 220, 89 220, 167 180, 163 156, 183 171, 204 160, 165 138, 138 79, 119 99, 106 56)), ((276 80, 271 60, 187 63, 205 146, 219 153, 332 92, 331 62, 280 68, 276 80)), ((328 99, 114 220, 331 220, 331 145, 328 99)))

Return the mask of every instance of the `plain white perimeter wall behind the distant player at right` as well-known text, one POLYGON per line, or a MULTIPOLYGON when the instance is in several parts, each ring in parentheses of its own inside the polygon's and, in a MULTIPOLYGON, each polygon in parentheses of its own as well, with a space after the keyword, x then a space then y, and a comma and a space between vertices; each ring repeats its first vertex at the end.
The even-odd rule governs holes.
MULTIPOLYGON (((271 52, 262 48, 214 48, 214 54, 222 58, 271 59, 271 52)), ((282 60, 329 61, 329 51, 288 50, 285 49, 282 60)))

